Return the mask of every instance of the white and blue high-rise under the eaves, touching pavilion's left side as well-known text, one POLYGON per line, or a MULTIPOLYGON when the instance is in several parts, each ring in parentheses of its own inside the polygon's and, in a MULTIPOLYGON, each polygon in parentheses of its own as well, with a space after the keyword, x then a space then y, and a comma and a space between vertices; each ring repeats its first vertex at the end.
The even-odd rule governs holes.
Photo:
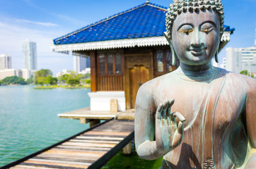
POLYGON ((88 67, 90 67, 90 58, 74 56, 74 70, 77 73, 81 73, 81 71, 86 70, 88 67))

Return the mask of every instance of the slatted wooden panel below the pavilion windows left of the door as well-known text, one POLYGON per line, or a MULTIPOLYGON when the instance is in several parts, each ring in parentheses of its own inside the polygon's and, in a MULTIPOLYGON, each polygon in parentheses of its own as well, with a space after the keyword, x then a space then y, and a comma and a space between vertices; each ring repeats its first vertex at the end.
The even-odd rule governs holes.
POLYGON ((97 91, 124 91, 124 75, 98 76, 97 91))

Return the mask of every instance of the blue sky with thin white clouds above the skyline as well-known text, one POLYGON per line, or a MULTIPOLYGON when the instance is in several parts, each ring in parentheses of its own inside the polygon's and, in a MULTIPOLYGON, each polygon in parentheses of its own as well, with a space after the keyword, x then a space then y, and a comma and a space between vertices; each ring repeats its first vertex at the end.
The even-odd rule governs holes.
MULTIPOLYGON (((172 1, 149 0, 169 6, 172 1)), ((37 43, 37 69, 73 70, 73 58, 50 50, 52 40, 81 27, 126 11, 146 0, 0 0, 0 54, 10 54, 12 68, 23 68, 22 43, 37 43)), ((222 0, 225 25, 235 27, 231 41, 219 54, 219 62, 227 47, 249 47, 255 42, 256 0, 222 0)))

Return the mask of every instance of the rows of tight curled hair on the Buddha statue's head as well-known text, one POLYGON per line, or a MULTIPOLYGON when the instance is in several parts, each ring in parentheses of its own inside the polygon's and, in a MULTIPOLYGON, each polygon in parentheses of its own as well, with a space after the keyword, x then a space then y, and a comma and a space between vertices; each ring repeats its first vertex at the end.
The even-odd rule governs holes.
POLYGON ((221 24, 220 34, 222 35, 224 32, 224 12, 221 0, 177 0, 173 1, 173 4, 170 4, 170 8, 168 8, 166 13, 165 25, 168 38, 172 39, 173 21, 175 20, 177 15, 187 12, 199 13, 199 11, 206 10, 215 11, 219 15, 219 20, 221 24))

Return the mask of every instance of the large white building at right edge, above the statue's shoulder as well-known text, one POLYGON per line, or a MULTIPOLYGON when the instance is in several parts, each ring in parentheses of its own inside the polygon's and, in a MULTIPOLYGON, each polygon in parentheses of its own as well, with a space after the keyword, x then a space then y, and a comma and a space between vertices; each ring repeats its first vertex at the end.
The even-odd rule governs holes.
POLYGON ((256 73, 256 46, 248 48, 227 48, 226 58, 223 58, 221 68, 234 73, 248 70, 248 73, 256 73))

